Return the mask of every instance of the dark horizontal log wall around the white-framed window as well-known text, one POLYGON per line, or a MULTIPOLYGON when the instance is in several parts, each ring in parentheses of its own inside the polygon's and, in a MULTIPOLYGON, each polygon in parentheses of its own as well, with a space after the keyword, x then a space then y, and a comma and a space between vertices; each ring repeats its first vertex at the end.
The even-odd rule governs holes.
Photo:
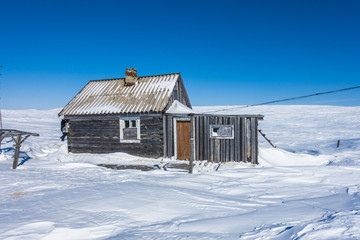
POLYGON ((164 153, 163 117, 140 117, 140 143, 120 143, 119 117, 70 119, 69 152, 125 152, 144 157, 161 157, 164 153))

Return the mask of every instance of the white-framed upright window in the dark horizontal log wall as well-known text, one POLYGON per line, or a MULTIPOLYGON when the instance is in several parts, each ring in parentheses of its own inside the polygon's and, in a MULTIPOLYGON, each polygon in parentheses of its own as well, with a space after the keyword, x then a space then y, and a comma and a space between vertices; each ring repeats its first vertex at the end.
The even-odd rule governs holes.
POLYGON ((120 142, 139 143, 140 142, 140 117, 120 118, 120 142))

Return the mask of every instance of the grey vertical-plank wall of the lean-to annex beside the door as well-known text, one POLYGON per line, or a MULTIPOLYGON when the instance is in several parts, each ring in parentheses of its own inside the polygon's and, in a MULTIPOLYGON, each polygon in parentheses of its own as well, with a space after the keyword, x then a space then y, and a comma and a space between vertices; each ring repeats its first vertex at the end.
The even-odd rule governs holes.
MULTIPOLYGON (((166 115, 166 153, 165 157, 174 156, 173 119, 166 115)), ((195 160, 212 162, 251 162, 258 163, 258 119, 246 116, 211 116, 195 115, 195 160), (232 125, 232 139, 212 138, 210 125, 232 125)), ((176 156, 175 156, 176 157, 176 156)))

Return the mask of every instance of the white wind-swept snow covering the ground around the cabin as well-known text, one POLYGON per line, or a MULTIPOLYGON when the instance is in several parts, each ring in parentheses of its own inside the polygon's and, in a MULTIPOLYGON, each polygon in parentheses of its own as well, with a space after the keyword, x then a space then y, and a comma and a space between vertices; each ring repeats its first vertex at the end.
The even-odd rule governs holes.
POLYGON ((16 170, 2 142, 0 239, 360 239, 360 107, 225 108, 265 115, 259 128, 278 148, 259 136, 258 166, 112 170, 95 164, 161 159, 69 154, 60 109, 3 110, 4 128, 40 137, 16 170))

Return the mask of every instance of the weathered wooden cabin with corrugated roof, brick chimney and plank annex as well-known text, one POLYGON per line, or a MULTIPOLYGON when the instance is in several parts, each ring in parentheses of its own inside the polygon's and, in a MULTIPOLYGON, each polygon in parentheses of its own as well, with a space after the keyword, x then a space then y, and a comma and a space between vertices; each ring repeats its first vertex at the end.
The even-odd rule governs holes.
POLYGON ((59 113, 73 153, 257 164, 261 115, 192 110, 180 73, 90 81, 59 113))

